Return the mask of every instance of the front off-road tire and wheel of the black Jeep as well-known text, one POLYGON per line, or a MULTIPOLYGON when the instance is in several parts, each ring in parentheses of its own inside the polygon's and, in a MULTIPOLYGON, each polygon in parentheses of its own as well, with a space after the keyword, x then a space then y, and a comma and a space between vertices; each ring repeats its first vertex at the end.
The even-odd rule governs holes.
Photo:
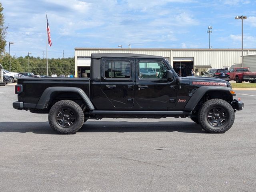
POLYGON ((234 109, 228 102, 222 99, 211 99, 206 101, 198 112, 199 124, 202 126, 204 130, 206 130, 209 133, 225 133, 232 127, 234 120, 234 109), (216 114, 219 114, 218 116, 220 117, 220 119, 218 120, 215 120, 214 109, 215 111, 217 110, 216 114), (209 117, 210 113, 213 113, 214 118, 209 117), (210 123, 210 121, 215 121, 215 125, 213 125, 214 123, 210 123))

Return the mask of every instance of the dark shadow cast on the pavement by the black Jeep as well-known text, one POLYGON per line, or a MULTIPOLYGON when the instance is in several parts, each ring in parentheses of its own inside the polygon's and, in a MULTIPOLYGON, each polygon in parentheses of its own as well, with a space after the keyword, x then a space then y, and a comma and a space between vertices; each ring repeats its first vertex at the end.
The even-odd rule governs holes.
MULTIPOLYGON (((207 133, 194 122, 128 122, 88 121, 79 132, 184 132, 207 133)), ((57 134, 48 122, 0 122, 0 132, 33 132, 35 134, 57 134)))

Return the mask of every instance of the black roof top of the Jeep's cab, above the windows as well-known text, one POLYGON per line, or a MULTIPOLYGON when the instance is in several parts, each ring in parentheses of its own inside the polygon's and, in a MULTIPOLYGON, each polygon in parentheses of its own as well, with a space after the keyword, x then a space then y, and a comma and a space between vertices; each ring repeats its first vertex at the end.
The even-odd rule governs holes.
POLYGON ((164 57, 161 56, 153 56, 153 55, 143 55, 143 54, 132 54, 132 53, 92 53, 92 59, 100 59, 100 58, 155 58, 155 59, 162 59, 164 57))

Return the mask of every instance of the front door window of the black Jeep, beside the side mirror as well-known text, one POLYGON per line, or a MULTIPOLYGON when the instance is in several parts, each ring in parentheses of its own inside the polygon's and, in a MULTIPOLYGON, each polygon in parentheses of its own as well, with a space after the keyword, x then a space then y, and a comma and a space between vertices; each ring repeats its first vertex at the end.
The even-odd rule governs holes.
POLYGON ((139 77, 141 79, 166 79, 167 68, 162 61, 140 61, 139 77))

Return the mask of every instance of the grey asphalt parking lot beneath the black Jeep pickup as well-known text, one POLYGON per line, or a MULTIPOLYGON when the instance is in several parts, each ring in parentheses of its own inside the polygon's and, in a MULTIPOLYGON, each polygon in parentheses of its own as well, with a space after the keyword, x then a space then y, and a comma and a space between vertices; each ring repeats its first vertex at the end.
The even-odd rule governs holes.
POLYGON ((0 87, 1 191, 255 191, 256 90, 225 134, 188 118, 89 120, 58 135, 47 114, 12 108, 14 86, 0 87))

